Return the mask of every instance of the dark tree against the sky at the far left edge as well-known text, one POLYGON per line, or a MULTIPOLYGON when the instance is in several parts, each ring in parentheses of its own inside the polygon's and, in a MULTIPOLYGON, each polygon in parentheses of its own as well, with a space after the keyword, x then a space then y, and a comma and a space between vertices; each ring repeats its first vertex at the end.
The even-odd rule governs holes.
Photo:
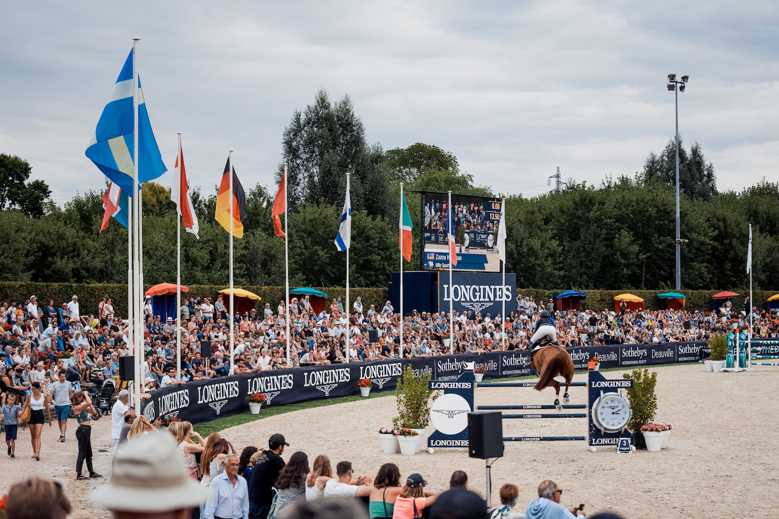
POLYGON ((0 153, 0 210, 19 209, 24 216, 40 218, 51 190, 44 181, 25 181, 33 168, 26 160, 0 153))

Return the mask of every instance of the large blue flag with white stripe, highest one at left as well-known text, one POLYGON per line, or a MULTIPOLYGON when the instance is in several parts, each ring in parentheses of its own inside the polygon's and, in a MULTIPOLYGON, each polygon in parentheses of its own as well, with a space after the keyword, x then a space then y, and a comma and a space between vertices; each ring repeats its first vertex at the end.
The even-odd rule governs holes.
MULTIPOLYGON (((116 79, 114 91, 100 114, 86 156, 126 194, 132 193, 135 119, 132 108, 132 51, 116 79)), ((138 182, 151 181, 167 171, 151 129, 138 79, 138 182)))

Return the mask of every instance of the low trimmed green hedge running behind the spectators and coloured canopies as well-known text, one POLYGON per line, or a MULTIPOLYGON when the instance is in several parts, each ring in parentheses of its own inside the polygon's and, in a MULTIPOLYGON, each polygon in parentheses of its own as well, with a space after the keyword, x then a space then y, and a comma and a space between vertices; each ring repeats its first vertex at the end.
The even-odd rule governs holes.
MULTIPOLYGON (((146 289, 150 286, 146 286, 146 289)), ((270 303, 275 309, 279 301, 284 300, 283 286, 238 286, 256 293, 263 298, 258 308, 264 307, 264 303, 270 303)), ((346 288, 343 286, 314 287, 328 295, 327 304, 333 302, 338 296, 346 302, 346 288)), ((213 285, 190 285, 189 294, 198 296, 209 296, 216 299, 217 293, 224 286, 213 285)), ((744 297, 749 294, 749 289, 729 289, 731 292, 740 294, 733 300, 733 306, 738 310, 744 307, 744 297)), ((546 301, 550 297, 554 298, 565 290, 544 290, 544 289, 517 289, 518 294, 522 296, 533 296, 539 301, 546 301)), ((584 290, 587 292, 587 299, 582 301, 582 310, 602 311, 605 309, 614 309, 614 296, 621 293, 633 293, 642 297, 647 310, 660 310, 665 307, 665 300, 657 299, 657 294, 668 292, 664 290, 584 290)), ((686 308, 691 310, 710 310, 711 296, 721 290, 681 290, 681 293, 687 296, 686 308)), ((71 300, 73 294, 79 296, 82 314, 90 314, 94 311, 97 304, 100 303, 103 296, 108 294, 114 303, 114 309, 119 315, 127 314, 127 285, 101 283, 101 284, 81 284, 81 283, 33 283, 33 282, 0 282, 0 303, 10 302, 11 300, 23 301, 25 297, 36 295, 38 304, 46 306, 48 300, 54 300, 56 306, 61 306, 71 300)), ((756 290, 753 292, 753 306, 760 309, 766 307, 767 300, 773 296, 774 292, 767 290, 756 290)), ((351 288, 349 291, 350 301, 357 300, 357 296, 362 297, 365 307, 375 304, 376 309, 380 310, 387 299, 387 291, 383 288, 351 288)))

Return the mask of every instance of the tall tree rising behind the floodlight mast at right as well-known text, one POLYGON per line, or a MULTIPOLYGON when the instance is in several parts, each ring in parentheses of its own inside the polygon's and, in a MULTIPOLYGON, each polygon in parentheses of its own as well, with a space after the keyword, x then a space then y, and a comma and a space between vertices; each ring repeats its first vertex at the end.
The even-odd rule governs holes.
MULTIPOLYGON (((695 142, 687 151, 682 146, 679 137, 679 191, 689 198, 701 198, 711 202, 717 193, 717 179, 714 175, 714 165, 706 163, 700 144, 695 142)), ((643 164, 643 179, 645 182, 659 182, 676 189, 676 142, 668 141, 660 155, 650 152, 643 164)))

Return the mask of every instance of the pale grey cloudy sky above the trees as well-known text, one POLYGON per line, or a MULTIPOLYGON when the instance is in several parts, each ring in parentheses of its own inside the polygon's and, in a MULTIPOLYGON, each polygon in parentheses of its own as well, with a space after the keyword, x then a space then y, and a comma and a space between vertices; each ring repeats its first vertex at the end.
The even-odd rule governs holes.
MULTIPOLYGON (((478 184, 538 195, 547 177, 640 170, 680 132, 719 188, 777 180, 779 9, 772 2, 3 2, 0 153, 62 204, 101 189, 84 150, 132 45, 168 167, 192 184, 227 150, 273 184, 280 140, 316 90, 348 93, 385 149, 454 153, 478 184)), ((169 175, 160 179, 170 184, 169 175)))

